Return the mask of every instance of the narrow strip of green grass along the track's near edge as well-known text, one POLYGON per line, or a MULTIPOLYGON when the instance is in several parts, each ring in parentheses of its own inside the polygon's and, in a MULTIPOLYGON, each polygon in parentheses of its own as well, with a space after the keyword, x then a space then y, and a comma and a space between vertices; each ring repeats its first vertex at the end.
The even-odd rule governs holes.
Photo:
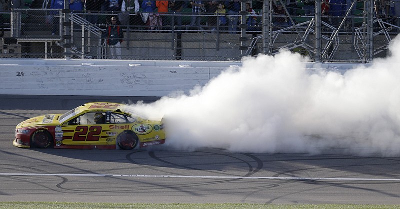
POLYGON ((1 209, 400 209, 400 205, 339 205, 339 204, 116 204, 60 202, 0 202, 1 209))

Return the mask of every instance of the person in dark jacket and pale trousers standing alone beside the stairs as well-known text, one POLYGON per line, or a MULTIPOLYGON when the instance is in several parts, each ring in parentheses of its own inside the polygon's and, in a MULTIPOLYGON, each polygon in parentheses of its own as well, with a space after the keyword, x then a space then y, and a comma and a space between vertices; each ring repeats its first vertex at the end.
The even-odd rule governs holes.
POLYGON ((111 17, 111 24, 105 31, 107 45, 112 59, 121 59, 121 43, 123 41, 123 32, 119 27, 117 17, 111 17))

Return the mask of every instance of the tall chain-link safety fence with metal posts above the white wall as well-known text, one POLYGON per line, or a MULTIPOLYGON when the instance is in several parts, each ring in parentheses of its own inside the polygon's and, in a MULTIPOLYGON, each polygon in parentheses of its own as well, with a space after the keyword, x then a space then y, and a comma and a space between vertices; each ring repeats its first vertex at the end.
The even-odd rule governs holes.
POLYGON ((45 1, 43 8, 2 12, 0 54, 224 61, 288 48, 315 61, 368 62, 385 56, 388 42, 400 29, 396 15, 400 0, 381 4, 376 0, 175 0, 167 1, 167 11, 162 12, 156 6, 159 1, 130 1, 117 1, 119 7, 111 11, 104 5, 91 11, 84 9, 87 5, 73 11, 68 6, 50 9, 45 1), (154 4, 153 10, 148 11, 146 4, 154 4), (117 18, 116 30, 109 27, 111 17, 117 18), (109 47, 120 34, 123 41, 109 47))

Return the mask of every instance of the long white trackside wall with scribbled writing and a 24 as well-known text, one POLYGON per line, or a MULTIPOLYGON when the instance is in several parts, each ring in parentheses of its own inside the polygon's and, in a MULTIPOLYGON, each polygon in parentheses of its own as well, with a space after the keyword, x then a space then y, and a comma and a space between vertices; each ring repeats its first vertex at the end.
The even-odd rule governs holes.
MULTIPOLYGON (((240 62, 1 59, 0 94, 165 96, 203 86, 240 62)), ((348 69, 353 64, 307 63, 348 69)))

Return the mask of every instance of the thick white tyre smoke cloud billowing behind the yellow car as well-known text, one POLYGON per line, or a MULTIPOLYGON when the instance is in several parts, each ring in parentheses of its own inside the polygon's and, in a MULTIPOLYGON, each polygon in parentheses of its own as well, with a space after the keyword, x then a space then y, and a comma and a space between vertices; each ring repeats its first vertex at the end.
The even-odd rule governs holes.
POLYGON ((306 70, 305 58, 285 50, 246 57, 188 95, 132 106, 164 118, 173 149, 398 157, 399 37, 389 51, 343 74, 306 70))

